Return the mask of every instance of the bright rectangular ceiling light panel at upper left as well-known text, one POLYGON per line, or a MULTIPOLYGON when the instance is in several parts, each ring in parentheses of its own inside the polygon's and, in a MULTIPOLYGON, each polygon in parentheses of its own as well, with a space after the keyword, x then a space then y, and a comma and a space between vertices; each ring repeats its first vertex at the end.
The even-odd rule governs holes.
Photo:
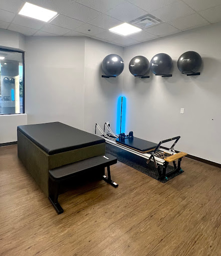
POLYGON ((36 20, 49 22, 58 13, 26 2, 19 14, 36 20))

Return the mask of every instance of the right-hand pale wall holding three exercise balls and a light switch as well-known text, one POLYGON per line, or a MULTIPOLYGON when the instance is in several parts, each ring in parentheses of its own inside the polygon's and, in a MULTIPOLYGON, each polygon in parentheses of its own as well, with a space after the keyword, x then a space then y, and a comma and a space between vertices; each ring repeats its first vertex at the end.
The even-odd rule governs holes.
POLYGON ((123 93, 127 97, 127 131, 149 141, 181 136, 176 149, 221 163, 221 25, 211 25, 124 50, 123 93), (176 66, 186 51, 203 60, 199 76, 186 76, 176 66), (157 53, 174 60, 172 77, 133 77, 129 61, 143 55, 149 61, 157 53), (184 114, 180 114, 184 108, 184 114), (212 120, 213 119, 213 120, 212 120))

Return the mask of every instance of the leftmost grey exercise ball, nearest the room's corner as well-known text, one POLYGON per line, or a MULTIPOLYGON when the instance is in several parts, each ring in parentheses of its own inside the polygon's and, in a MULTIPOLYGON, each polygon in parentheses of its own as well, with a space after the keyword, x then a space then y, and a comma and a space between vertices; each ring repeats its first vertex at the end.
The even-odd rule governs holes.
POLYGON ((124 61, 119 55, 110 54, 103 59, 101 67, 107 76, 119 76, 124 70, 124 61))

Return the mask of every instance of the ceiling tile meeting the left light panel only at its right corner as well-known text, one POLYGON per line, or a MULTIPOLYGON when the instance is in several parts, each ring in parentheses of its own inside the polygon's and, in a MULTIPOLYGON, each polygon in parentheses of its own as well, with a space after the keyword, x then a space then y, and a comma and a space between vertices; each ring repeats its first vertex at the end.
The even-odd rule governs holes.
POLYGON ((73 2, 73 4, 62 11, 61 14, 83 22, 88 22, 100 15, 99 12, 76 2, 73 2))

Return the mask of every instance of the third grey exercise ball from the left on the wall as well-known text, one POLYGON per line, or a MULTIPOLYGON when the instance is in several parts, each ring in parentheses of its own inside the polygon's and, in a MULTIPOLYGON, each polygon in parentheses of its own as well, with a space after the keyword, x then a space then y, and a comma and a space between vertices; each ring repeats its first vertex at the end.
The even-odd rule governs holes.
POLYGON ((150 69, 155 75, 168 75, 172 69, 173 61, 168 54, 158 53, 150 61, 150 69))

